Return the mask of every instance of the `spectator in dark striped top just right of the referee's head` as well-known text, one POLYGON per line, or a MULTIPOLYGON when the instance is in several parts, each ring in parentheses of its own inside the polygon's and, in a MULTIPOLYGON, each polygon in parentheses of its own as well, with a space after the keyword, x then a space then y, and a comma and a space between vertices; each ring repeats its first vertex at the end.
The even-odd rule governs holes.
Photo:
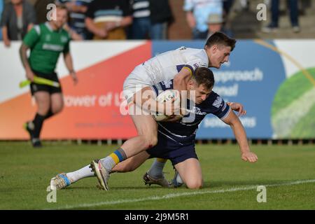
POLYGON ((69 28, 73 40, 89 39, 90 35, 85 28, 85 13, 88 5, 93 0, 57 0, 56 3, 62 3, 69 10, 69 28))

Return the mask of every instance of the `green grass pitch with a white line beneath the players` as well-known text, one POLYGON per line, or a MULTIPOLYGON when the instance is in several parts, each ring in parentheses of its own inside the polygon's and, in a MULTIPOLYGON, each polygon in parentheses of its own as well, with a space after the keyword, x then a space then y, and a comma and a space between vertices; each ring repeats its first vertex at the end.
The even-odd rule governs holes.
MULTIPOLYGON (((243 162, 237 145, 197 145, 204 188, 145 186, 148 160, 129 174, 112 174, 109 191, 95 177, 46 198, 50 179, 104 158, 116 146, 0 142, 0 209, 315 209, 315 146, 251 146, 258 162, 243 162), (266 186, 267 202, 257 202, 257 186, 266 186)), ((172 179, 167 162, 165 176, 172 179)))

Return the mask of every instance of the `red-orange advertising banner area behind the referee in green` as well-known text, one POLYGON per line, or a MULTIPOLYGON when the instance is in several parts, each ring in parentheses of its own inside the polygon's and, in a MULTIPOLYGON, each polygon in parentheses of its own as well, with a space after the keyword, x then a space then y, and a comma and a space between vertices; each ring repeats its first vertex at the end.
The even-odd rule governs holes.
MULTIPOLYGON (((70 76, 60 78, 64 110, 45 121, 41 138, 126 139, 136 135, 130 116, 120 113, 120 93, 125 78, 151 54, 151 42, 144 42, 77 71, 78 85, 73 85, 70 76)), ((22 125, 35 113, 36 105, 31 103, 29 92, 2 102, 0 139, 28 139, 22 125)))

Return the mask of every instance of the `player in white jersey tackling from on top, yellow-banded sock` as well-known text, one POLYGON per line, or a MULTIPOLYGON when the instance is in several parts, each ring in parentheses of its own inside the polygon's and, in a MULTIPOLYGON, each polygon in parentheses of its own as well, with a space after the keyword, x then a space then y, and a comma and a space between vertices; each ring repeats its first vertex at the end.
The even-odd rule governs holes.
MULTIPOLYGON (((228 62, 230 52, 235 48, 235 43, 235 39, 221 32, 216 32, 207 39, 204 49, 182 47, 157 55, 135 67, 125 80, 123 92, 127 104, 130 106, 130 116, 138 135, 125 141, 120 148, 106 158, 91 162, 92 169, 97 174, 104 190, 108 190, 107 181, 113 167, 119 162, 158 144, 158 124, 156 121, 151 115, 142 113, 142 111, 136 113, 139 112, 137 106, 133 104, 136 92, 139 92, 143 87, 171 79, 174 79, 174 89, 180 92, 186 90, 188 80, 195 69, 198 67, 219 69, 221 64, 228 62)), ((166 113, 166 109, 165 105, 158 104, 156 106, 156 110, 160 113, 166 113)), ((178 110, 173 107, 169 113, 174 114, 178 110)))

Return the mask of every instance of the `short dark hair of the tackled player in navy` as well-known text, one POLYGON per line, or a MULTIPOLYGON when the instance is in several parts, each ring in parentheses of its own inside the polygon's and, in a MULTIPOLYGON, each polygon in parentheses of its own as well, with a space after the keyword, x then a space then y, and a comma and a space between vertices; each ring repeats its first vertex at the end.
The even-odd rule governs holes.
POLYGON ((206 67, 197 68, 192 79, 195 80, 198 86, 204 85, 207 90, 214 87, 214 73, 206 67))

